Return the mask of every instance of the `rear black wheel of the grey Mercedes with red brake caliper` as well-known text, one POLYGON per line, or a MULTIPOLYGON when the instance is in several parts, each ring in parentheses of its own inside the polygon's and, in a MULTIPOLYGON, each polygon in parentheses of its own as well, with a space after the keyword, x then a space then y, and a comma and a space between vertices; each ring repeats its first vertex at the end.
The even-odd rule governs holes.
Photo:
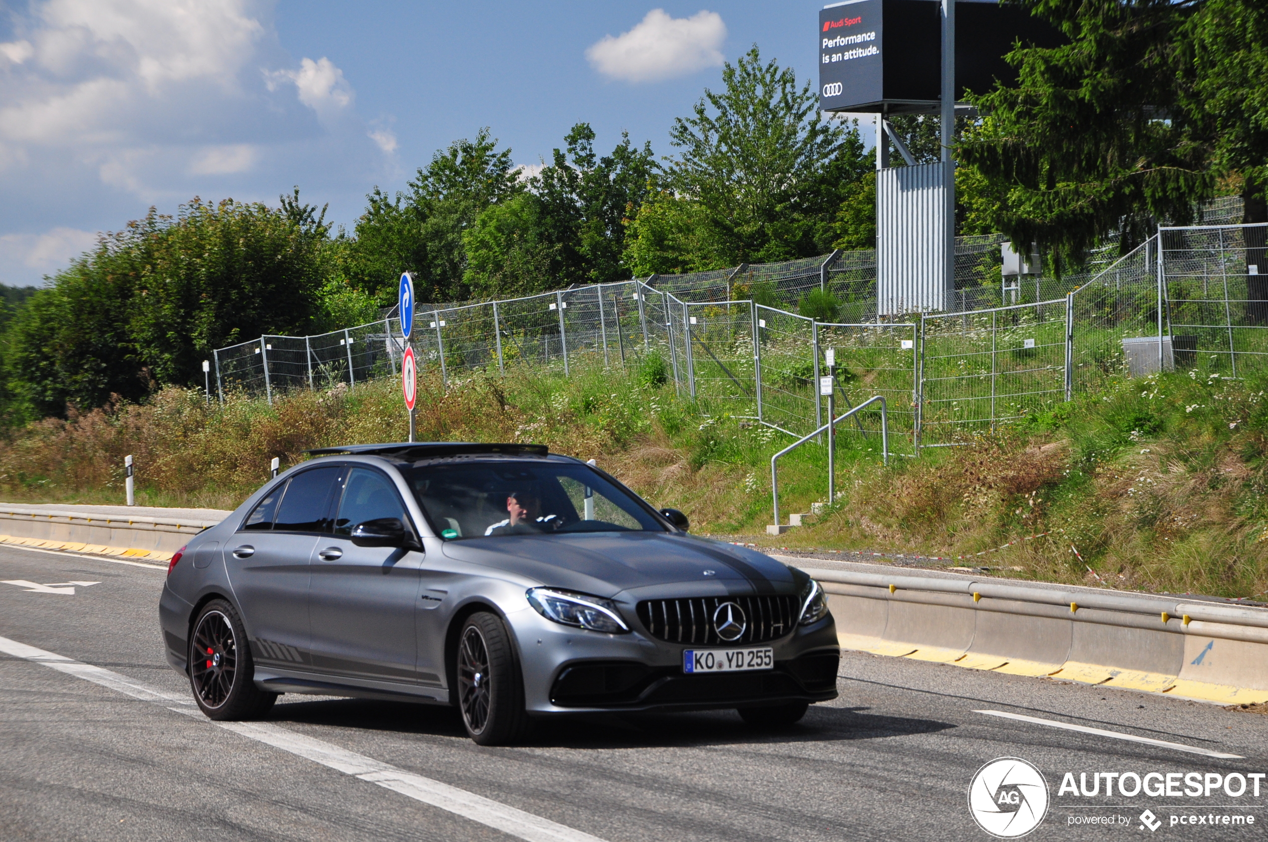
POLYGON ((278 694, 255 686, 255 663, 246 630, 233 606, 212 600, 194 621, 189 638, 189 683, 194 701, 212 719, 262 715, 278 694))

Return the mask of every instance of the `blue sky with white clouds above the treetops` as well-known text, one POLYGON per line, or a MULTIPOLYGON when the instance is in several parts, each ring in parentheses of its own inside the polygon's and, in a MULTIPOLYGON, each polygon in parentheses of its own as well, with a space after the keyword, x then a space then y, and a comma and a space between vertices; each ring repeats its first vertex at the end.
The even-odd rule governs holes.
POLYGON ((0 282, 194 195, 299 185, 350 227, 482 126, 530 166, 582 120, 600 151, 628 131, 670 155, 751 44, 813 81, 820 6, 0 0, 0 282))

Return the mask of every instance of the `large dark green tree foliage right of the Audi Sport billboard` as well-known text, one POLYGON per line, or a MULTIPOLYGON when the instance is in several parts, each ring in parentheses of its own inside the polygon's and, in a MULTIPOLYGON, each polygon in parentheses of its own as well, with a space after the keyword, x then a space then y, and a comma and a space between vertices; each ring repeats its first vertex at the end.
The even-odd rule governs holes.
POLYGON ((1019 86, 979 98, 957 157, 1007 195, 997 224, 1064 262, 1120 232, 1130 249, 1184 223, 1244 176, 1246 221, 1268 218, 1264 42, 1258 0, 1025 0, 1069 43, 1019 46, 1019 86))

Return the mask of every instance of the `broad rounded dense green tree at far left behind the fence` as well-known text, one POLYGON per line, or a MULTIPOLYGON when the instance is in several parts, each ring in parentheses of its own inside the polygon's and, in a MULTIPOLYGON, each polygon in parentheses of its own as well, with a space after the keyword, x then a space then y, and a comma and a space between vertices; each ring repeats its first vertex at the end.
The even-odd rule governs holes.
POLYGON ((306 332, 328 241, 320 217, 283 205, 195 198, 175 218, 151 209, 104 235, 5 332, 10 394, 37 416, 137 401, 156 384, 202 384, 214 347, 306 332))

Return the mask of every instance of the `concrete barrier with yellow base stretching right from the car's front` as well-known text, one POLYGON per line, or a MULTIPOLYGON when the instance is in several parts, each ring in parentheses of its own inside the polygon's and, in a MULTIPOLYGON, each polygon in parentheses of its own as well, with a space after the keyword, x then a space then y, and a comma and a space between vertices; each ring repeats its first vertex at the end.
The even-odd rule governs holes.
POLYGON ((815 569, 806 559, 777 558, 823 585, 843 648, 1203 701, 1268 701, 1268 609, 898 569, 815 569))

